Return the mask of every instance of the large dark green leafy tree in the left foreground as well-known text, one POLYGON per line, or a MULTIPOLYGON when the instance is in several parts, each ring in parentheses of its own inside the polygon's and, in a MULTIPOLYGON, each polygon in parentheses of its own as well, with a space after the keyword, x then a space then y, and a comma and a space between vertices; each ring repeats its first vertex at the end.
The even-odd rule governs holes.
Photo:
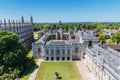
POLYGON ((29 58, 18 36, 13 32, 0 31, 0 80, 14 80, 27 68, 29 58))

